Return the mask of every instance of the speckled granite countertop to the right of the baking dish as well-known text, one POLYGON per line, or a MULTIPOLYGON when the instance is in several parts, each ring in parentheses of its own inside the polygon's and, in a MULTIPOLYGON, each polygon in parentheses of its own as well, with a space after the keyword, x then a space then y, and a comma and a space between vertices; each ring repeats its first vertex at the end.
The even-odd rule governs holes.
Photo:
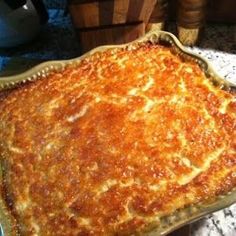
MULTIPOLYGON (((209 25, 199 47, 190 48, 208 59, 216 71, 236 84, 236 25, 209 25)), ((191 236, 235 236, 236 204, 191 225, 191 236)))

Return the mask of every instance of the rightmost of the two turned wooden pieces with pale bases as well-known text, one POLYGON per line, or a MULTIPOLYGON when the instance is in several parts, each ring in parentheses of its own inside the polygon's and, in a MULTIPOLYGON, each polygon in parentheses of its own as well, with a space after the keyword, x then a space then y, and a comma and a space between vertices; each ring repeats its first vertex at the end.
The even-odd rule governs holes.
POLYGON ((207 0, 179 0, 177 30, 184 45, 194 45, 205 21, 207 0))

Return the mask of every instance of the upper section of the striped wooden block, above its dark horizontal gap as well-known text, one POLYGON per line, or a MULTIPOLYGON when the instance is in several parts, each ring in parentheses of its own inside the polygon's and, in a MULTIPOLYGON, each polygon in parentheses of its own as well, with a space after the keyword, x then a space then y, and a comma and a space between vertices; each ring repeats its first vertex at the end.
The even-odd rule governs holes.
POLYGON ((156 0, 70 0, 69 11, 77 28, 147 23, 156 0))

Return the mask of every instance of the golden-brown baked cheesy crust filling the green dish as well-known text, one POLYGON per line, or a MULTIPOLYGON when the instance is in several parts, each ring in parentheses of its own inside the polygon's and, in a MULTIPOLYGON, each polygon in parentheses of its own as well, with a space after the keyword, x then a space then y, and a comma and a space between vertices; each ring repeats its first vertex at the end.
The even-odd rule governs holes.
POLYGON ((130 235, 236 187, 236 101, 170 48, 98 52, 0 102, 23 235, 130 235))

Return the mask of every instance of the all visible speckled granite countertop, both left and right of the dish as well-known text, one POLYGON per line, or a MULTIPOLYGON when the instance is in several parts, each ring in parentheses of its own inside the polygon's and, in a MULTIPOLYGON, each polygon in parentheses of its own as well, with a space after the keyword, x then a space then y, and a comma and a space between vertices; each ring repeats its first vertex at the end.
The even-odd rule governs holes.
MULTIPOLYGON (((172 32, 173 26, 170 27, 172 32)), ((227 80, 236 83, 236 26, 207 25, 199 47, 202 54, 227 80)), ((67 59, 80 55, 69 16, 62 10, 50 10, 49 23, 37 40, 16 49, 0 49, 0 71, 13 67, 30 67, 43 60, 67 59), (12 62, 13 61, 13 62, 12 62)), ((191 236, 235 236, 236 204, 206 216, 191 225, 191 236)))

